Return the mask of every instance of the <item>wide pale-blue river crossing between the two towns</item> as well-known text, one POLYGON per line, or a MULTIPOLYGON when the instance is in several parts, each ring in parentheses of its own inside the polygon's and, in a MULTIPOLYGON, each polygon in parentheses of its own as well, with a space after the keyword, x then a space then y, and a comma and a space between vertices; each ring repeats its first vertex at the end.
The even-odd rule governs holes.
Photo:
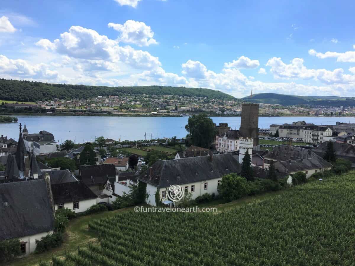
MULTIPOLYGON (((54 134, 59 143, 71 139, 75 143, 84 143, 104 136, 115 140, 138 140, 146 138, 163 138, 186 136, 184 117, 118 117, 118 116, 17 116, 18 122, 26 123, 28 133, 38 133, 41 130, 54 134)), ((214 123, 228 123, 232 129, 239 129, 240 116, 211 117, 214 123)), ((271 124, 292 123, 293 121, 307 123, 335 124, 337 121, 355 123, 355 117, 259 117, 259 128, 269 128, 271 124)), ((19 123, 0 123, 0 135, 18 139, 19 123)))

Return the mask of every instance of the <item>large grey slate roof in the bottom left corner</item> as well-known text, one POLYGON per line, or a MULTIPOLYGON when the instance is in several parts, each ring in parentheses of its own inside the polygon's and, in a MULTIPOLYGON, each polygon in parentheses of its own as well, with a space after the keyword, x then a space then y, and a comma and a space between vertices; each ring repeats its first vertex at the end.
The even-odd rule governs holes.
POLYGON ((44 179, 2 183, 0 191, 0 241, 54 230, 54 211, 44 179))

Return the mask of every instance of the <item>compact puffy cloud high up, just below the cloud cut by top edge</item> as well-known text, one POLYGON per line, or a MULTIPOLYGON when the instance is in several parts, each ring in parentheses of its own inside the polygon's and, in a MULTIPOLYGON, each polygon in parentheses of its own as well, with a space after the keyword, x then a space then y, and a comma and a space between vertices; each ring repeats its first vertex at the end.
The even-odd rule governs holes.
POLYGON ((120 32, 121 35, 118 40, 124 43, 133 43, 138 46, 158 44, 158 42, 153 39, 154 32, 152 32, 151 27, 147 26, 144 22, 127 20, 123 25, 108 23, 108 27, 120 32))

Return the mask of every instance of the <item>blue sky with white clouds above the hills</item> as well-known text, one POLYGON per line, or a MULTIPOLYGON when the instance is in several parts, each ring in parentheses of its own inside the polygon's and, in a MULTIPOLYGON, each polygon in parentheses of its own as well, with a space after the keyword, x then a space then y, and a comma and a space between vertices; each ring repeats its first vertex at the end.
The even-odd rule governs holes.
POLYGON ((355 1, 2 0, 0 77, 355 96, 355 1))

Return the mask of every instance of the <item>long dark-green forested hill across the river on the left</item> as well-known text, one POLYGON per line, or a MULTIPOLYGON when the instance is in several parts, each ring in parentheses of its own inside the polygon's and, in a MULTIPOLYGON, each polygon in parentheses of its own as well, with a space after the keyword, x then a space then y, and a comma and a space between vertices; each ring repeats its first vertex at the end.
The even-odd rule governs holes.
POLYGON ((143 86, 105 87, 70 84, 51 84, 32 81, 0 79, 0 99, 12 101, 38 101, 58 99, 89 99, 97 96, 122 94, 148 94, 176 96, 200 96, 208 99, 236 100, 218 90, 185 87, 143 86))

